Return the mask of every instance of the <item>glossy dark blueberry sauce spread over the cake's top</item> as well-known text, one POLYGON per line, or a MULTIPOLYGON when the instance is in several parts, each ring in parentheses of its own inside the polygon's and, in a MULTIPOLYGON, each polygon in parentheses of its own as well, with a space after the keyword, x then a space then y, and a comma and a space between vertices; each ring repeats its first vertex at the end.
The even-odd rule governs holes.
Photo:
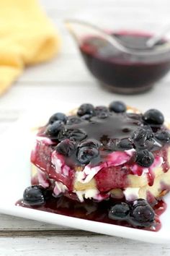
MULTIPOLYGON (((79 148, 79 144, 81 141, 86 140, 97 140, 99 142, 100 148, 100 158, 94 159, 92 164, 101 163, 102 161, 106 161, 106 155, 109 152, 112 152, 108 148, 108 143, 113 142, 115 144, 116 141, 124 138, 128 138, 133 135, 136 129, 139 126, 143 126, 142 117, 140 114, 137 115, 129 115, 127 113, 115 113, 109 112, 109 115, 106 119, 100 119, 99 116, 92 116, 89 120, 82 120, 79 124, 66 124, 65 130, 66 135, 61 135, 62 139, 64 136, 68 136, 69 138, 73 139, 73 136, 76 137, 76 148, 73 151, 72 155, 69 157, 65 157, 65 161, 68 166, 75 166, 75 163, 79 165, 79 161, 77 159, 76 150, 79 148), (71 133, 74 131, 74 135, 71 133), (82 137, 80 136, 82 133, 82 137), (77 139, 79 137, 79 140, 77 139)), ((43 137, 47 136, 45 134, 45 129, 47 127, 43 127, 40 129, 38 136, 43 137)), ((59 137, 60 140, 60 137, 59 137)), ((54 145, 58 145, 58 134, 53 137, 54 145)), ((46 143, 44 143, 46 144, 46 143)), ((47 143, 48 148, 48 143, 47 143)), ((51 151, 53 151, 54 147, 51 145, 51 151)), ((42 151, 44 152, 44 148, 42 151)), ((48 150, 48 149, 47 149, 48 150)), ((46 150, 45 150, 46 152, 46 150)), ((35 161, 33 161, 34 163, 35 161)))

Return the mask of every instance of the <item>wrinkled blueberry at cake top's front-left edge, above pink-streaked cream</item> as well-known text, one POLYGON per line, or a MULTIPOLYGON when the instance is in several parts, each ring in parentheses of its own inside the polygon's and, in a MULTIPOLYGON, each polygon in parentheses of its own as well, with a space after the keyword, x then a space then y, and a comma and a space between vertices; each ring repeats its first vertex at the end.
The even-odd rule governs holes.
POLYGON ((75 149, 76 142, 73 140, 63 140, 60 142, 56 147, 55 150, 58 153, 61 153, 62 155, 70 156, 73 153, 73 150, 75 149))

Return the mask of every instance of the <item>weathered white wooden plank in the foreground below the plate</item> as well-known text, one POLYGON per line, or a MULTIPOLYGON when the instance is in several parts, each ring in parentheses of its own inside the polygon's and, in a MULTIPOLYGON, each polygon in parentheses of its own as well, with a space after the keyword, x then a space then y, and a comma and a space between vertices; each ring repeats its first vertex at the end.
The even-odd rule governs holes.
POLYGON ((0 239, 1 256, 169 256, 169 244, 147 244, 113 236, 45 236, 0 239))

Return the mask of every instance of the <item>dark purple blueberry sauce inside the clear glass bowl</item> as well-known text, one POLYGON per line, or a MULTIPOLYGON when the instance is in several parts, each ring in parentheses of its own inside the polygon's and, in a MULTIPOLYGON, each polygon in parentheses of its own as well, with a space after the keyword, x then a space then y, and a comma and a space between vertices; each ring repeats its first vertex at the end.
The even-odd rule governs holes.
MULTIPOLYGON (((125 46, 146 47, 151 37, 146 33, 122 31, 114 33, 125 46)), ((163 44, 165 40, 160 40, 163 44)), ((81 54, 86 66, 102 84, 120 93, 136 93, 151 88, 170 69, 170 51, 166 54, 134 56, 118 51, 105 40, 95 36, 82 38, 81 54)))

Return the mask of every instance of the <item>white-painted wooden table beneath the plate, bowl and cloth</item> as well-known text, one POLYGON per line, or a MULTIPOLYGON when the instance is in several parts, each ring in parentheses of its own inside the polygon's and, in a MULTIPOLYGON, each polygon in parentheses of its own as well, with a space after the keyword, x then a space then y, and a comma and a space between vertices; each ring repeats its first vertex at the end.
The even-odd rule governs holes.
MULTIPOLYGON (((73 17, 87 6, 102 9, 109 7, 133 8, 148 14, 151 9, 163 12, 169 20, 169 0, 41 0, 63 38, 60 56, 50 63, 29 67, 22 77, 0 99, 0 132, 9 127, 24 111, 43 109, 69 103, 79 106, 83 102, 108 104, 121 99, 145 111, 155 107, 169 114, 170 75, 149 93, 135 96, 114 95, 99 87, 84 68, 73 40, 63 27, 62 20, 73 17), (59 99, 59 100, 58 100, 59 99), (44 104, 45 102, 45 104, 44 104)), ((149 19, 149 15, 147 16, 149 19)), ((149 22, 149 20, 146 20, 149 22)), ((57 111, 57 110, 56 110, 57 111)), ((0 255, 170 255, 169 244, 149 244, 113 236, 91 234, 85 231, 49 225, 37 221, 0 215, 0 255)))

